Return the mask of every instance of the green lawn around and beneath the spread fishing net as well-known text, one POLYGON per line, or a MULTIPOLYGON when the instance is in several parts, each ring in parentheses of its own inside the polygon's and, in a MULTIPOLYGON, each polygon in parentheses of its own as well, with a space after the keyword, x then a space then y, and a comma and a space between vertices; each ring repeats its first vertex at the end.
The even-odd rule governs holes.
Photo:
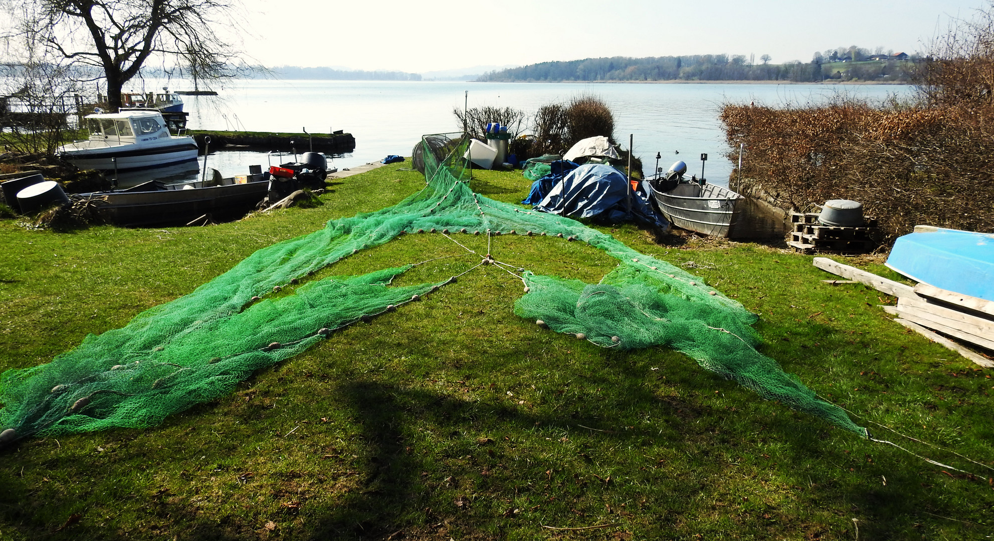
MULTIPOLYGON (((398 203, 423 186, 403 167, 336 182, 317 207, 209 227, 55 233, 2 219, 0 368, 46 362, 329 218, 398 203)), ((474 176, 488 197, 527 195, 518 175, 474 176)), ((855 525, 860 539, 994 535, 992 471, 943 451, 994 466, 989 370, 890 322, 882 294, 822 283, 810 256, 599 228, 760 314, 761 351, 878 438, 982 476, 833 429, 669 349, 542 330, 513 314, 521 282, 485 266, 162 427, 0 451, 0 539, 850 540, 855 525)), ((563 239, 493 242, 499 259, 537 273, 595 282, 614 265, 563 239)), ((406 235, 324 272, 459 250, 406 235)), ((472 264, 441 259, 399 283, 472 264)))

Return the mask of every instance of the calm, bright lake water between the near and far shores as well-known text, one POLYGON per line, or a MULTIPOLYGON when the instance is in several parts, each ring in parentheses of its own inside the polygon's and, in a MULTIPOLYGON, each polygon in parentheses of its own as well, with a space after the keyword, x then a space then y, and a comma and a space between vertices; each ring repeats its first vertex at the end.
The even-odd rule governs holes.
MULTIPOLYGON (((147 86, 154 88, 152 81, 147 86)), ((162 85, 159 84, 159 87, 162 85)), ((172 89, 189 85, 172 81, 172 89)), ((691 173, 701 172, 700 155, 707 153, 705 177, 727 184, 733 163, 726 158, 718 113, 723 103, 771 106, 824 103, 840 94, 871 101, 891 95, 910 96, 904 85, 821 84, 654 84, 654 83, 501 83, 465 81, 343 81, 236 80, 219 96, 184 96, 194 129, 330 133, 345 130, 356 138, 355 151, 332 157, 339 169, 381 160, 389 154, 410 156, 420 136, 459 131, 454 108, 461 109, 466 91, 469 107, 515 107, 531 115, 542 105, 569 101, 580 95, 600 97, 614 115, 614 137, 628 146, 646 171, 662 154, 664 169, 684 160, 691 173), (679 151, 679 155, 676 154, 679 151)), ((306 151, 306 142, 297 145, 306 151)), ((285 156, 284 156, 285 158, 285 156)), ((288 161, 288 160, 283 160, 288 161)), ((226 177, 243 175, 252 164, 267 167, 276 156, 258 152, 219 152, 209 167, 226 177)), ((203 162, 199 168, 202 169, 203 162)), ((191 175, 193 166, 185 168, 191 175)), ((174 176, 182 172, 172 173, 174 176)))

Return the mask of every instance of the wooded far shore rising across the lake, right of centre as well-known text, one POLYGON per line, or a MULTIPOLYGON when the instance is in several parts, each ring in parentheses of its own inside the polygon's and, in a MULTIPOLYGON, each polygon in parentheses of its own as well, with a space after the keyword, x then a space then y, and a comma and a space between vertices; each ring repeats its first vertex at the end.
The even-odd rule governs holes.
POLYGON ((691 55, 681 57, 610 57, 570 62, 545 62, 520 68, 501 69, 481 75, 479 81, 569 81, 569 80, 782 80, 821 82, 827 79, 907 82, 912 62, 896 60, 826 63, 793 62, 752 64, 742 55, 691 55))

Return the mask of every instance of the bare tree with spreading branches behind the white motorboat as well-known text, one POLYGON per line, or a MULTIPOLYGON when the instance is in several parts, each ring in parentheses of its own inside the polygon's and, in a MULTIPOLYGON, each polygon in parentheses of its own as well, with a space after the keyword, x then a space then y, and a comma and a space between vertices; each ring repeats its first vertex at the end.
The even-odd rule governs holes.
MULTIPOLYGON (((123 85, 152 59, 210 78, 232 75, 230 63, 240 58, 214 31, 241 26, 228 0, 0 0, 0 6, 15 23, 31 18, 55 57, 100 69, 111 110, 121 104, 123 85)), ((14 27, 7 36, 17 33, 14 27)))

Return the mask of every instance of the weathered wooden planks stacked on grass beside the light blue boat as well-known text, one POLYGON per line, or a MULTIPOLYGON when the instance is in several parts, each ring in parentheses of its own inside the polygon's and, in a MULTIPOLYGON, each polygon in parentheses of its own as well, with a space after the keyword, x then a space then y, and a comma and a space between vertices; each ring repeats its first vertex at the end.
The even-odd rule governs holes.
POLYGON ((882 307, 888 314, 899 317, 895 322, 981 366, 994 368, 994 360, 990 357, 945 338, 994 350, 994 302, 927 284, 911 287, 825 257, 815 257, 814 266, 897 297, 898 306, 882 307))

